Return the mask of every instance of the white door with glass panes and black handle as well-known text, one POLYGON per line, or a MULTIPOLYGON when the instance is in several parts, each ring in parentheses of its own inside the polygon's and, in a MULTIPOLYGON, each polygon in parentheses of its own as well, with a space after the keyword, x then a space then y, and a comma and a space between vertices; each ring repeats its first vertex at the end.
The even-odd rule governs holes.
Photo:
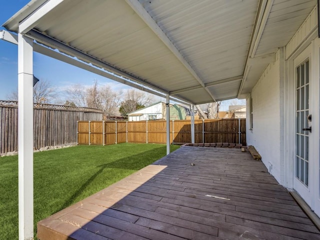
POLYGON ((312 134, 310 99, 309 47, 294 59, 295 67, 295 154, 293 187, 310 206, 312 193, 310 179, 312 159, 309 159, 309 140, 312 134))

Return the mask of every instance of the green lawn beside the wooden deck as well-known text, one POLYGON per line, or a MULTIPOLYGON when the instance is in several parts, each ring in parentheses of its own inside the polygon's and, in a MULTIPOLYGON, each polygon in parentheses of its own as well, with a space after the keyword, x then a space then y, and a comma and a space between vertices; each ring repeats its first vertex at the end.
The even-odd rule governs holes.
MULTIPOLYGON (((179 146, 171 145, 171 151, 179 146)), ((36 222, 165 155, 163 144, 75 146, 34 153, 36 222)), ((18 158, 0 158, 0 239, 18 239, 18 158)))

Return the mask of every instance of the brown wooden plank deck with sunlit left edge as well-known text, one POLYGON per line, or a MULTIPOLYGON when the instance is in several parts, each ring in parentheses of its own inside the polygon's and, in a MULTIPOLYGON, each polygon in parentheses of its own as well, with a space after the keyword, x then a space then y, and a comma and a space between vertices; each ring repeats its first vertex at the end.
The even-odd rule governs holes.
POLYGON ((250 153, 183 146, 38 222, 37 236, 310 240, 320 232, 250 153))

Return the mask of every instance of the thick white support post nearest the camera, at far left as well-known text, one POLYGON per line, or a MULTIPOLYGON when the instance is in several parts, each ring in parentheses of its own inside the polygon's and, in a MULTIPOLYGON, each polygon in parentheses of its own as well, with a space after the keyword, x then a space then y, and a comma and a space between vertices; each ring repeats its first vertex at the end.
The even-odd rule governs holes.
POLYGON ((33 41, 18 34, 19 240, 33 239, 33 41))

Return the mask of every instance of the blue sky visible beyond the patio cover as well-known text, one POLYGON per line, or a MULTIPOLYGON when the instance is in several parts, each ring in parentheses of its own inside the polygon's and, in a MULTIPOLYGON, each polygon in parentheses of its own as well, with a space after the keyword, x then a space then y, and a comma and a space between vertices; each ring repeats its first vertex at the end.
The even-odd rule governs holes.
MULTIPOLYGON (((1 0, 0 25, 9 19, 15 12, 26 5, 29 0, 1 0)), ((0 27, 0 29, 4 29, 0 27)), ((59 94, 58 102, 65 102, 64 90, 74 84, 84 87, 91 86, 97 80, 99 85, 108 84, 113 90, 130 88, 122 83, 91 73, 65 62, 33 52, 33 74, 40 80, 51 83, 59 94)), ((17 90, 17 45, 0 40, 0 100, 7 100, 7 95, 17 90)), ((158 96, 154 97, 160 100, 158 96)), ((245 104, 245 101, 226 101, 221 107, 227 108, 228 102, 245 104)), ((223 109, 224 110, 224 109, 223 109)))

